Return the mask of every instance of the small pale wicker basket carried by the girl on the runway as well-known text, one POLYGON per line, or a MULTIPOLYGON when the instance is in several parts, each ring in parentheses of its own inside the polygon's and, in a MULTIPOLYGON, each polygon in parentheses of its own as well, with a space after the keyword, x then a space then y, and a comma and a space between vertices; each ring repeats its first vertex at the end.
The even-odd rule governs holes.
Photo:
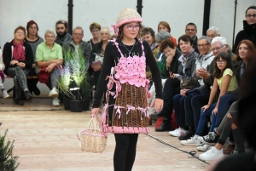
POLYGON ((103 124, 96 115, 93 115, 87 127, 79 132, 82 151, 102 153, 105 150, 108 131, 104 129, 103 124))

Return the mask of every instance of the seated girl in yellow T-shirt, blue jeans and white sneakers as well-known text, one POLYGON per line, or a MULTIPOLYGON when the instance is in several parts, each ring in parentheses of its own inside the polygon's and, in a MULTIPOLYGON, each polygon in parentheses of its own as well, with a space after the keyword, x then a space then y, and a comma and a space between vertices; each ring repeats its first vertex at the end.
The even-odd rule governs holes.
POLYGON ((195 136, 190 140, 181 140, 182 145, 201 145, 201 141, 198 139, 198 137, 202 136, 204 128, 207 127, 208 117, 212 116, 210 132, 213 131, 216 125, 219 100, 217 103, 212 103, 212 101, 218 89, 220 89, 219 97, 221 97, 222 95, 226 94, 226 92, 234 91, 237 88, 237 81, 230 54, 227 52, 221 52, 214 58, 214 62, 216 62, 213 72, 214 83, 212 85, 208 103, 207 105, 201 107, 201 117, 198 127, 196 128, 195 136))

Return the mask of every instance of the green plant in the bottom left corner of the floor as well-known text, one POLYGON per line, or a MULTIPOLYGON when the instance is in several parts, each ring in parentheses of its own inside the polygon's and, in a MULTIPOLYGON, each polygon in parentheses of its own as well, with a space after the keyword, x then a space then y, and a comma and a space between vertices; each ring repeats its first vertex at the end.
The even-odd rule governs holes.
POLYGON ((5 143, 6 134, 8 129, 5 131, 3 136, 0 134, 0 170, 3 171, 15 171, 19 166, 17 163, 18 157, 13 156, 14 140, 10 140, 5 143))

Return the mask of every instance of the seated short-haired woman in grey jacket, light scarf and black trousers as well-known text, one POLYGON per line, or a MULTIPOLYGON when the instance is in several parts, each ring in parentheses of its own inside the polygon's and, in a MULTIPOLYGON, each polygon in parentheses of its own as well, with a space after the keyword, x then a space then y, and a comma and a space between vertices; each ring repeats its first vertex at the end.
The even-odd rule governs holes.
POLYGON ((195 59, 198 54, 193 48, 193 39, 188 35, 183 35, 178 38, 182 55, 178 58, 177 73, 169 73, 170 77, 166 79, 164 86, 164 106, 163 109, 156 115, 157 117, 163 117, 163 123, 160 128, 155 131, 170 131, 171 129, 171 115, 173 108, 173 96, 180 92, 180 80, 177 77, 194 77, 192 74, 195 70, 195 59))

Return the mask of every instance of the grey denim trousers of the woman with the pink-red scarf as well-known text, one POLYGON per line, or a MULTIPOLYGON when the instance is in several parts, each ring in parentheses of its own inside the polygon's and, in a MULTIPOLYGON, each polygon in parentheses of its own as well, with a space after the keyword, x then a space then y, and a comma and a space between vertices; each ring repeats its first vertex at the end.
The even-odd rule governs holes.
POLYGON ((9 67, 7 69, 7 75, 14 77, 15 100, 20 99, 21 91, 27 89, 26 77, 28 74, 29 70, 20 68, 20 66, 9 67))

